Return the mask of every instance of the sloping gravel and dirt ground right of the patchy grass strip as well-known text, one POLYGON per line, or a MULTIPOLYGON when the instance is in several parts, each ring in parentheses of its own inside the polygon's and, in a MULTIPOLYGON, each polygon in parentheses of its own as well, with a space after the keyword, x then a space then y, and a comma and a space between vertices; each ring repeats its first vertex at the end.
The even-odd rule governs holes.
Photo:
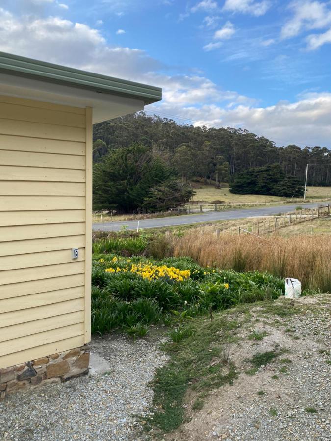
POLYGON ((331 316, 326 298, 330 302, 330 295, 302 298, 297 305, 314 303, 313 311, 289 319, 277 317, 279 322, 275 324, 271 317, 260 319, 242 330, 242 337, 247 336, 250 327, 269 335, 260 342, 244 340, 234 348, 230 357, 240 372, 238 380, 233 386, 212 391, 204 408, 191 412, 191 420, 165 438, 181 441, 331 440, 331 316), (289 352, 259 368, 255 375, 246 375, 244 372, 252 366, 245 363, 245 358, 273 350, 275 343, 289 352), (285 358, 291 362, 281 363, 285 358), (284 366, 287 371, 282 373, 280 369, 284 366), (278 379, 273 378, 275 375, 278 379), (258 391, 264 393, 259 395, 258 391))

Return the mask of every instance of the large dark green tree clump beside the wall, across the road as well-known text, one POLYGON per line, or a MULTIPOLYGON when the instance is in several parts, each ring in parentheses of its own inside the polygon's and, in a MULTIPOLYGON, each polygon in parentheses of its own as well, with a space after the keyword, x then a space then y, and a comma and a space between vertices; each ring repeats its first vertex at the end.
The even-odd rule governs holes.
POLYGON ((110 150, 93 170, 94 209, 120 212, 167 210, 190 200, 194 190, 152 148, 134 143, 110 150))

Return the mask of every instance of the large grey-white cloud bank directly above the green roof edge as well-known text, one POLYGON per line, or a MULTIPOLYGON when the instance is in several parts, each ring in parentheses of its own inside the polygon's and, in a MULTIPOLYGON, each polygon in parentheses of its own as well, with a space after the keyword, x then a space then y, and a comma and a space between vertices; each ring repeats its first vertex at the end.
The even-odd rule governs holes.
POLYGON ((1 8, 0 23, 4 52, 127 79, 161 66, 144 50, 106 44, 98 29, 82 23, 59 17, 17 17, 1 8))

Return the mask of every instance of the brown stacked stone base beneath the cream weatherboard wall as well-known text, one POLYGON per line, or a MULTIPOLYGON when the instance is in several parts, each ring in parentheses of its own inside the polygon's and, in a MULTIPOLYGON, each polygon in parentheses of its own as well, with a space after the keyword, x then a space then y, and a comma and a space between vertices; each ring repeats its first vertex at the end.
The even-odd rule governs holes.
POLYGON ((87 374, 90 347, 51 354, 47 357, 0 369, 0 399, 13 392, 25 392, 49 383, 61 383, 87 374))

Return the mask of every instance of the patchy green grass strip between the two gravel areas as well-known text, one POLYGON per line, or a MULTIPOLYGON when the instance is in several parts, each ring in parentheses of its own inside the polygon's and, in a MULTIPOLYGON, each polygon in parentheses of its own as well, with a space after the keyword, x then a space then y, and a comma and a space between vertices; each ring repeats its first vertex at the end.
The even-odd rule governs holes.
MULTIPOLYGON (((176 429, 184 421, 187 392, 199 395, 221 387, 237 378, 234 364, 223 363, 223 347, 229 346, 237 322, 225 313, 213 319, 197 318, 190 323, 192 333, 178 343, 167 342, 164 350, 169 354, 169 363, 158 368, 151 383, 154 391, 153 405, 156 409, 148 425, 163 432, 176 429)), ((194 409, 203 406, 198 397, 194 409)))

